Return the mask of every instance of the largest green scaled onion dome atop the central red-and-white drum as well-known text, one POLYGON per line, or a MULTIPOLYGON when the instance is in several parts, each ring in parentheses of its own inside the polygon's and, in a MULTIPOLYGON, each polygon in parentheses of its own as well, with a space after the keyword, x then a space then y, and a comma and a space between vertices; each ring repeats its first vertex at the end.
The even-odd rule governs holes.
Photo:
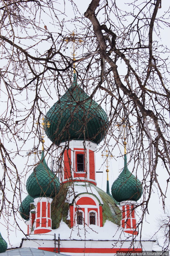
POLYGON ((59 145, 68 140, 88 140, 99 144, 107 131, 108 118, 105 111, 76 83, 47 112, 44 123, 48 138, 59 145))

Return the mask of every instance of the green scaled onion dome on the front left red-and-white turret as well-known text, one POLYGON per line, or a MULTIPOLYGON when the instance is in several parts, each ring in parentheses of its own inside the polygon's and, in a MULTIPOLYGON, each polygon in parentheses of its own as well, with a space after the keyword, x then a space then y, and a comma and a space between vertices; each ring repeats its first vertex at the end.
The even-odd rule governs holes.
POLYGON ((48 168, 44 152, 42 152, 41 160, 34 171, 28 177, 26 189, 28 194, 33 197, 54 197, 59 190, 59 180, 55 174, 48 168))

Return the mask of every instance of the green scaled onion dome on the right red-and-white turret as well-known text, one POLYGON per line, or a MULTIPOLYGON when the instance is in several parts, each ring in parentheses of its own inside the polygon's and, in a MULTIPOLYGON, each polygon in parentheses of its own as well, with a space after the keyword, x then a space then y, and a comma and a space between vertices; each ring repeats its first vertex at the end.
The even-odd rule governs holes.
POLYGON ((124 169, 118 178, 112 184, 112 196, 118 201, 137 201, 142 196, 142 184, 131 172, 129 172, 127 167, 126 154, 124 169))

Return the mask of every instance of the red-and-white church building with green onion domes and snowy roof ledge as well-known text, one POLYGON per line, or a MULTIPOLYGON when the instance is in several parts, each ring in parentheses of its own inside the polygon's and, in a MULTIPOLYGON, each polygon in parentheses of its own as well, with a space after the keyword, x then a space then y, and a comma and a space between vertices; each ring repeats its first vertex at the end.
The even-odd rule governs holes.
POLYGON ((97 187, 95 152, 107 133, 105 111, 78 86, 76 75, 65 94, 50 108, 44 126, 60 156, 60 179, 41 160, 26 182, 20 214, 27 224, 21 248, 33 247, 65 255, 115 255, 152 251, 154 241, 140 241, 135 207, 141 182, 124 169, 111 193, 97 187))

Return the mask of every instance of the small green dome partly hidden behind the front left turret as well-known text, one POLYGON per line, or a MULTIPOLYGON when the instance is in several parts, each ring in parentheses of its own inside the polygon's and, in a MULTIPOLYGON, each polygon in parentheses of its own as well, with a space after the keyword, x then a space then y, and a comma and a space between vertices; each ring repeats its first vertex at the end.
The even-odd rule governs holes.
POLYGON ((20 215, 24 220, 29 220, 29 204, 33 203, 34 199, 30 195, 27 195, 25 199, 20 204, 20 215))

